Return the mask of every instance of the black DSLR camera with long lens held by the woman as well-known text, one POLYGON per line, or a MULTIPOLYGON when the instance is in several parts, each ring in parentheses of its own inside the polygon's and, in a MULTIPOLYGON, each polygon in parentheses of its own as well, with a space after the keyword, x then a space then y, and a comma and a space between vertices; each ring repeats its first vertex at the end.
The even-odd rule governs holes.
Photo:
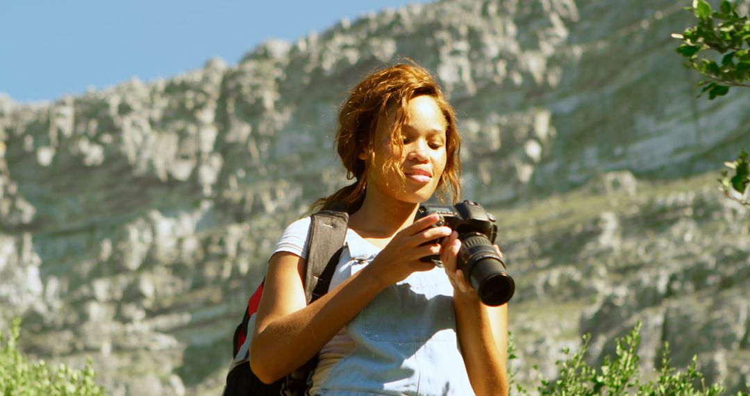
MULTIPOLYGON (((414 220, 430 214, 440 215, 440 220, 433 226, 449 226, 458 233, 461 241, 458 268, 477 291, 481 302, 496 307, 510 301, 515 283, 505 272, 505 263, 492 246, 497 236, 495 217, 477 202, 463 201, 453 206, 419 205, 414 220)), ((422 261, 440 263, 440 257, 422 257, 422 261)))

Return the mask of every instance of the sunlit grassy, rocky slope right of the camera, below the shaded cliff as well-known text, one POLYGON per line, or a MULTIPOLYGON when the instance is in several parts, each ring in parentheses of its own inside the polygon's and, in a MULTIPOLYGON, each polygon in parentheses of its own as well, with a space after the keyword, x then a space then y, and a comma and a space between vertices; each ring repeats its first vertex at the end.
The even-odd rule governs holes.
POLYGON ((559 350, 577 346, 583 333, 592 334, 589 358, 601 362, 640 321, 644 373, 659 368, 667 341, 674 367, 697 355, 709 379, 730 389, 747 383, 750 211, 721 199, 712 176, 641 181, 633 195, 592 194, 602 178, 497 209, 520 279, 511 330, 522 381, 534 378, 535 364, 553 375, 550 360, 562 359, 559 350))

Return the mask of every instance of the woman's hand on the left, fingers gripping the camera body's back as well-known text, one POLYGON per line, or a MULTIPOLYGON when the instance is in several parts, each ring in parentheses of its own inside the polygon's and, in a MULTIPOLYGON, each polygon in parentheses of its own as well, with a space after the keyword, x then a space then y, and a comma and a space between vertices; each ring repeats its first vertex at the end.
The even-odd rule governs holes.
POLYGON ((401 229, 368 265, 368 271, 383 287, 403 281, 413 272, 429 271, 435 267, 432 261, 425 263, 420 259, 440 254, 440 244, 429 242, 452 233, 447 226, 432 226, 437 220, 440 216, 431 214, 401 229))

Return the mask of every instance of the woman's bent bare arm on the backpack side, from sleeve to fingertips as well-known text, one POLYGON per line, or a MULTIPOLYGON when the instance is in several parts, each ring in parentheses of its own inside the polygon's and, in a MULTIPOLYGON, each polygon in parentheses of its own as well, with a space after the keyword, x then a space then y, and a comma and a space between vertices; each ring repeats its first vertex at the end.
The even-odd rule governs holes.
POLYGON ((258 307, 250 364, 264 383, 295 371, 391 284, 433 263, 419 259, 440 252, 427 242, 448 236, 448 227, 429 227, 437 216, 424 217, 402 229, 377 257, 334 290, 305 305, 302 279, 305 260, 278 252, 269 260, 263 297, 258 307))

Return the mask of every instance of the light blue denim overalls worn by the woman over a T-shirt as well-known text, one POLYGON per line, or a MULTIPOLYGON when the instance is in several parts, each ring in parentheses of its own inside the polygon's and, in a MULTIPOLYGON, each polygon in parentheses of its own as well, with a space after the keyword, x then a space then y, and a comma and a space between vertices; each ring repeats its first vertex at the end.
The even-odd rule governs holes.
MULTIPOLYGON (((358 272, 379 251, 364 239, 348 239, 339 276, 358 272)), ((415 272, 387 287, 346 329, 356 348, 314 384, 314 395, 474 395, 443 269, 415 272)))

